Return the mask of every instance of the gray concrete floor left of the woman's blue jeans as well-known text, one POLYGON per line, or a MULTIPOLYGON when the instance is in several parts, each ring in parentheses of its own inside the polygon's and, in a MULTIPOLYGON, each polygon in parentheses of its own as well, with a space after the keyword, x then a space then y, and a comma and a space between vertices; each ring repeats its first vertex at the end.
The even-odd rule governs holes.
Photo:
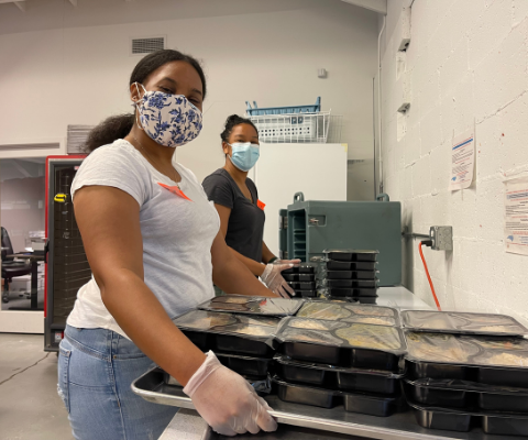
POLYGON ((0 439, 70 440, 57 395, 57 356, 42 334, 0 333, 0 439))

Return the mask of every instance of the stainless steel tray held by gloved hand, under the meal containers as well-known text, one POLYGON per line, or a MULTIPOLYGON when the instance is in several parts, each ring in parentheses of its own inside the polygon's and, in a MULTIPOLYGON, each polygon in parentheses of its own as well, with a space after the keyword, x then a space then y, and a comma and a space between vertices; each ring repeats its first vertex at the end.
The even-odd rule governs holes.
MULTIPOLYGON (((153 369, 132 383, 132 391, 145 400, 194 409, 193 402, 180 387, 165 384, 164 373, 153 369)), ((380 440, 519 440, 528 437, 505 437, 485 435, 481 429, 470 432, 450 432, 428 430, 418 426, 413 413, 399 413, 391 417, 374 417, 344 411, 343 407, 322 409, 306 405, 288 404, 277 396, 267 396, 267 403, 273 408, 270 414, 279 424, 296 427, 338 432, 349 436, 360 436, 380 440)))

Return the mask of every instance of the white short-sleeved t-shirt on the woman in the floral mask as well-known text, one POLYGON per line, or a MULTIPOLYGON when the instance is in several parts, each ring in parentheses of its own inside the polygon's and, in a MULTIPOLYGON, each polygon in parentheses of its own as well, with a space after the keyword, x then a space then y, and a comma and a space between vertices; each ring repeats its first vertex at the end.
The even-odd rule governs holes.
MULTIPOLYGON (((144 280, 170 318, 215 296, 211 245, 220 229, 217 210, 196 176, 176 162, 174 166, 182 176, 182 191, 193 201, 158 185, 176 183, 157 172, 124 140, 91 153, 72 184, 72 198, 84 186, 99 185, 119 188, 138 201, 144 280)), ((94 277, 77 293, 67 323, 109 329, 127 337, 105 307, 94 277)))

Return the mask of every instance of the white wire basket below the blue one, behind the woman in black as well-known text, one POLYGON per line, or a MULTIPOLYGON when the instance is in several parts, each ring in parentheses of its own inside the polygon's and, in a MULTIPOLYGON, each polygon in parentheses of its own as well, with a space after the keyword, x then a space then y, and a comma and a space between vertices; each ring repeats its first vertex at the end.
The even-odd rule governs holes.
POLYGON ((341 142, 342 116, 330 111, 318 113, 266 114, 251 117, 258 140, 267 143, 341 142))

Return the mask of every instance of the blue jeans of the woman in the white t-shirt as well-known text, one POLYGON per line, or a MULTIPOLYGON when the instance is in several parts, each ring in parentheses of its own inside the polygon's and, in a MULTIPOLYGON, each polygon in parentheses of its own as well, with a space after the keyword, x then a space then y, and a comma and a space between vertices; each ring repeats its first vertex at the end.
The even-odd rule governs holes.
POLYGON ((130 340, 105 329, 66 326, 58 394, 78 440, 155 440, 178 408, 152 404, 130 385, 153 362, 130 340))

